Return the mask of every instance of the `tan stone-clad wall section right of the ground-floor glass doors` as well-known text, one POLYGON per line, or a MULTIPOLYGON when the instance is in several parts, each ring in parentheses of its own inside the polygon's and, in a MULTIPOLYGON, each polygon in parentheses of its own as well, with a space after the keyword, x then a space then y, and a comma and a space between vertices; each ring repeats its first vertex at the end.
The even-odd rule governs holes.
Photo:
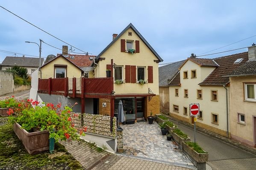
POLYGON ((147 116, 150 116, 150 112, 152 111, 154 116, 155 114, 160 113, 160 98, 159 95, 153 96, 150 100, 150 102, 148 101, 149 97, 147 97, 147 116))

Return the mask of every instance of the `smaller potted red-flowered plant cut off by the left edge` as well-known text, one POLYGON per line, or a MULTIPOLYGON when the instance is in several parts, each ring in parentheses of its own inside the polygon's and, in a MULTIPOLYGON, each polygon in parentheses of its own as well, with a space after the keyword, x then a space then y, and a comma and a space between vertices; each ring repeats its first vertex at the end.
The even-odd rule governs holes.
POLYGON ((0 116, 8 116, 9 108, 18 107, 18 101, 12 96, 0 101, 0 116))

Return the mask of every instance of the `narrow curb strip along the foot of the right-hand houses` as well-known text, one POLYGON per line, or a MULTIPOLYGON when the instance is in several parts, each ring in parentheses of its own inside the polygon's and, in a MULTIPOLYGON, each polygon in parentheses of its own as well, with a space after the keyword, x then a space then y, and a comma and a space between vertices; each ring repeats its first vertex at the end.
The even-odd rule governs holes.
MULTIPOLYGON (((169 116, 169 115, 165 115, 165 116, 167 116, 168 119, 170 119, 171 121, 174 121, 174 122, 176 122, 176 123, 185 125, 185 126, 187 126, 187 127, 194 128, 194 125, 190 125, 190 124, 187 123, 187 122, 184 122, 184 121, 182 121, 182 120, 176 119, 176 118, 171 117, 171 116, 169 116)), ((246 150, 247 152, 250 152, 250 153, 253 153, 253 154, 256 155, 256 149, 254 149, 254 148, 247 147, 247 146, 245 146, 244 144, 241 144, 241 143, 237 144, 237 143, 235 143, 235 142, 232 142, 232 141, 231 141, 232 139, 227 139, 226 137, 220 136, 220 135, 218 135, 217 133, 214 133, 214 132, 210 132, 210 131, 209 131, 209 133, 207 133, 206 130, 204 130, 203 128, 198 127, 198 126, 197 126, 197 130, 200 131, 200 132, 202 132, 202 133, 205 133, 206 135, 215 137, 216 139, 219 139, 219 140, 221 140, 221 141, 223 141, 223 142, 232 144, 232 145, 235 146, 235 147, 241 148, 241 149, 243 149, 243 150, 246 150)), ((207 130, 207 131, 208 131, 208 130, 207 130)))

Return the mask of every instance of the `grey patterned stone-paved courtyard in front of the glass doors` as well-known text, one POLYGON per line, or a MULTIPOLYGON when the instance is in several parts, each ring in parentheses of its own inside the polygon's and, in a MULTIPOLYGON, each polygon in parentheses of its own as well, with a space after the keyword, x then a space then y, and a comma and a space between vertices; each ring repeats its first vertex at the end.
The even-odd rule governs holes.
POLYGON ((135 156, 174 164, 194 165, 175 142, 166 140, 156 122, 152 125, 139 122, 121 127, 124 129, 124 149, 132 150, 135 156))

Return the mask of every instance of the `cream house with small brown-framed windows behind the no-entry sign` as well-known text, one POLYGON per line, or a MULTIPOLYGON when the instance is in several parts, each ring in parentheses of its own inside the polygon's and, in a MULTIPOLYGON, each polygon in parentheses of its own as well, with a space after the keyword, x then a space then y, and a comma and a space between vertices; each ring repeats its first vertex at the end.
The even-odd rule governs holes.
MULTIPOLYGON (((228 77, 223 76, 229 75, 247 60, 247 52, 215 59, 196 58, 192 54, 177 69, 176 75, 168 79, 170 115, 194 123, 194 119, 189 115, 189 104, 199 103, 200 116, 197 116, 197 126, 230 136, 230 123, 227 123, 230 122, 230 81, 228 77), (237 62, 238 60, 240 62, 237 62)), ((163 69, 159 72, 159 75, 161 74, 166 74, 166 71, 163 69)))

